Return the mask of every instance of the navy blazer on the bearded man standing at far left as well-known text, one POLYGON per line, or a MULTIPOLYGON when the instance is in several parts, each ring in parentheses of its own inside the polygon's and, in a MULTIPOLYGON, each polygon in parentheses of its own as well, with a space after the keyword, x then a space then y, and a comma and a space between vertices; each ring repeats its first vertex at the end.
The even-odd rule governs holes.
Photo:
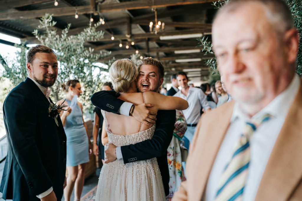
POLYGON ((3 105, 8 153, 0 192, 3 199, 40 200, 50 187, 63 196, 66 173, 66 135, 49 117, 50 102, 29 78, 16 86, 3 105))

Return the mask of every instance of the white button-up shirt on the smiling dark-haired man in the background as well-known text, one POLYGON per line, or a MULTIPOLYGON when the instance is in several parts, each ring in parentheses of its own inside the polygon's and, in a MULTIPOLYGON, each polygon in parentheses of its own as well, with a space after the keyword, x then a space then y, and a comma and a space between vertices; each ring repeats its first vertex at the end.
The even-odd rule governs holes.
POLYGON ((189 107, 182 111, 187 124, 198 123, 201 107, 204 108, 204 110, 210 108, 210 105, 207 102, 207 96, 199 88, 189 86, 187 96, 185 96, 181 90, 175 93, 174 96, 185 99, 189 103, 189 107))

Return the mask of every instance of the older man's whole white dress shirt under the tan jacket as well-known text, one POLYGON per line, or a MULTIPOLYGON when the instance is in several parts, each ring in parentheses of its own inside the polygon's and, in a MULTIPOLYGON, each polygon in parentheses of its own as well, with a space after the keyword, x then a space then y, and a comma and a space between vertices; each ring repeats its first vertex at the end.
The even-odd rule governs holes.
MULTIPOLYGON (((269 121, 260 125, 251 138, 251 160, 246 185, 243 191, 244 201, 252 201, 255 199, 268 158, 271 155, 271 151, 283 126, 289 108, 298 92, 299 86, 299 77, 295 75, 286 90, 252 117, 252 119, 257 119, 267 113, 273 116, 269 121)), ((226 135, 210 172, 205 195, 206 201, 215 199, 223 168, 229 162, 233 154, 233 146, 238 142, 240 134, 245 127, 245 122, 249 121, 249 119, 250 118, 241 111, 239 105, 236 103, 230 120, 230 127, 226 131, 226 135)))

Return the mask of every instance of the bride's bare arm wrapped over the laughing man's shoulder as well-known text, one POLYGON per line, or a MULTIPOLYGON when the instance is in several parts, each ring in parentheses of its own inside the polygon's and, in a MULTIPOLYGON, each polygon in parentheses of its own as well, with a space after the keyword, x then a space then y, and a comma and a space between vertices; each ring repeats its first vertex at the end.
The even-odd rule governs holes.
POLYGON ((160 93, 144 92, 146 102, 154 105, 158 110, 185 110, 189 107, 188 101, 175 96, 164 96, 160 93))

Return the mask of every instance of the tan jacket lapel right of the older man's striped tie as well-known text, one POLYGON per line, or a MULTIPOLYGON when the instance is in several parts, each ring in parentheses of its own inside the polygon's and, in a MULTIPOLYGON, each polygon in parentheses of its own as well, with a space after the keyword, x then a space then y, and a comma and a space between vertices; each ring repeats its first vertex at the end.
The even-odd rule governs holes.
POLYGON ((255 200, 288 200, 302 175, 302 87, 268 159, 255 200), (278 193, 275 193, 278 192, 278 193))

